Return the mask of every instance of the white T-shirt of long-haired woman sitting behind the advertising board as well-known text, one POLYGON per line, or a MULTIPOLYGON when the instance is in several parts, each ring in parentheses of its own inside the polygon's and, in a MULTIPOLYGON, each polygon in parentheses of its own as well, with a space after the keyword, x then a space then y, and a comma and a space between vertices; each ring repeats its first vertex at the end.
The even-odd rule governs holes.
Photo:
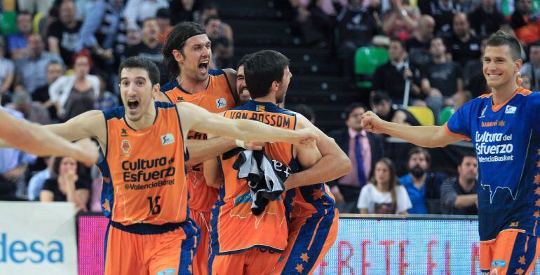
POLYGON ((396 204, 392 204, 391 192, 379 192, 375 185, 364 185, 358 197, 358 209, 367 209, 370 214, 397 214, 412 207, 407 190, 402 185, 396 188, 396 204))

